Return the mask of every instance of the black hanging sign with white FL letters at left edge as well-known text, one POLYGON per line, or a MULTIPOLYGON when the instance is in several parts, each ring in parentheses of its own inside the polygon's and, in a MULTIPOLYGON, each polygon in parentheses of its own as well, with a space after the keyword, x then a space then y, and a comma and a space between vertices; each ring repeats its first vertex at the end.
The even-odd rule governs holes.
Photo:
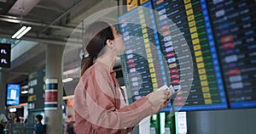
POLYGON ((0 67, 10 67, 10 49, 11 44, 0 43, 0 67))

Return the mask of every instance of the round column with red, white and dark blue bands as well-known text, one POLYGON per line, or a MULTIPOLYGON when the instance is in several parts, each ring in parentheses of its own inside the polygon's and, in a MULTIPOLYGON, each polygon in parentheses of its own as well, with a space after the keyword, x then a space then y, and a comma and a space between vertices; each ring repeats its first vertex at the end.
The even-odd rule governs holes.
POLYGON ((62 132, 62 55, 64 45, 46 47, 44 116, 47 133, 62 132))

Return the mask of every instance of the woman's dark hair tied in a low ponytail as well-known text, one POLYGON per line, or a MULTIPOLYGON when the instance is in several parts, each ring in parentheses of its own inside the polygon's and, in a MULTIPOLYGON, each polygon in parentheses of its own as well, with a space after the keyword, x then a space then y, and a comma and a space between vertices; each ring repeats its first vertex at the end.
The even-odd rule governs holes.
POLYGON ((113 39, 112 28, 107 22, 97 21, 86 29, 84 32, 84 45, 89 53, 89 57, 84 61, 81 75, 90 68, 97 57, 104 53, 102 49, 107 45, 107 41, 113 39))

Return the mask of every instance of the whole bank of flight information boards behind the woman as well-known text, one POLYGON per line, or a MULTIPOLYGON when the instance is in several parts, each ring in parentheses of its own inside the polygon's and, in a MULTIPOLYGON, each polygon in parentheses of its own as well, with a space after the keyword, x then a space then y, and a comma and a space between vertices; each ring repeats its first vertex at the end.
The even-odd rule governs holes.
POLYGON ((254 0, 143 2, 118 18, 130 103, 172 85, 165 112, 256 107, 254 0))

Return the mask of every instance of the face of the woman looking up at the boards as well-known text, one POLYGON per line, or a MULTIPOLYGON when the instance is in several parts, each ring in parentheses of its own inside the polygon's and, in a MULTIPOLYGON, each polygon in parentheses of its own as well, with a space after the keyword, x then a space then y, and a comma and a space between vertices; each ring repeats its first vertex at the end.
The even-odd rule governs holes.
POLYGON ((113 25, 111 25, 111 28, 112 28, 113 37, 114 37, 113 45, 116 48, 117 52, 120 53, 120 52, 125 51, 125 45, 123 42, 122 35, 119 34, 119 32, 115 29, 115 27, 113 25))

